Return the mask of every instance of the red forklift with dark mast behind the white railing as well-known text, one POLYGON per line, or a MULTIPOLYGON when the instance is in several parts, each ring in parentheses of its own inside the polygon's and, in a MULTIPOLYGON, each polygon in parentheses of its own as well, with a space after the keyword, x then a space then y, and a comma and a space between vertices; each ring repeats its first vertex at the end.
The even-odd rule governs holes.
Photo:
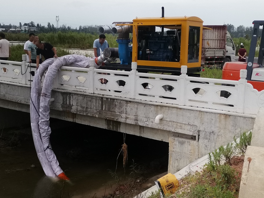
MULTIPOLYGON (((235 80, 240 79, 240 70, 247 69, 247 81, 252 84, 254 89, 262 91, 264 89, 264 31, 262 30, 260 51, 258 55, 258 62, 254 62, 254 56, 257 46, 257 39, 260 26, 264 27, 264 21, 253 21, 253 34, 251 38, 251 44, 248 54, 248 62, 226 62, 222 71, 222 79, 235 80)), ((226 85, 228 86, 228 85, 226 85)), ((229 85, 232 86, 232 85, 229 85)), ((223 97, 228 97, 229 93, 221 93, 223 97), (224 94, 224 95, 223 95, 224 94)))

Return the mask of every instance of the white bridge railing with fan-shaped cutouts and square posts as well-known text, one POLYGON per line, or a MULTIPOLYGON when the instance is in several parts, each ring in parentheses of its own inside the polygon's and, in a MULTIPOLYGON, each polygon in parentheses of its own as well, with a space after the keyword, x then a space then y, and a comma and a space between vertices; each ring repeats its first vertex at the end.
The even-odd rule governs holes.
MULTIPOLYGON (((132 63, 131 72, 126 72, 96 69, 93 65, 89 69, 63 66, 53 88, 246 114, 257 114, 264 106, 264 91, 258 92, 247 83, 246 70, 240 71, 239 81, 231 81, 189 77, 187 66, 182 66, 180 76, 139 73, 136 67, 132 63), (102 84, 102 78, 106 84, 102 84)), ((0 61, 2 82, 29 86, 35 71, 35 64, 29 67, 25 61, 0 61)))

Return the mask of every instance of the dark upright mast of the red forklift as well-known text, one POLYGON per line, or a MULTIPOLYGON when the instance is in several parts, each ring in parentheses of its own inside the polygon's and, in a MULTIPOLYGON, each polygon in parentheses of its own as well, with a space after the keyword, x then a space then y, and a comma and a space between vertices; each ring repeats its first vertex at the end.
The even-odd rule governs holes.
MULTIPOLYGON (((247 80, 251 80, 251 75, 253 71, 253 62, 254 62, 254 56, 257 46, 257 40, 258 40, 258 31, 260 29, 260 26, 264 27, 264 21, 253 21, 253 34, 251 37, 251 43, 250 43, 250 49, 248 54, 248 62, 247 62, 247 80)), ((260 40, 260 53, 258 54, 258 64, 263 64, 263 51, 264 48, 264 31, 262 30, 261 40, 260 40)), ((263 66, 263 65, 262 65, 263 66)))

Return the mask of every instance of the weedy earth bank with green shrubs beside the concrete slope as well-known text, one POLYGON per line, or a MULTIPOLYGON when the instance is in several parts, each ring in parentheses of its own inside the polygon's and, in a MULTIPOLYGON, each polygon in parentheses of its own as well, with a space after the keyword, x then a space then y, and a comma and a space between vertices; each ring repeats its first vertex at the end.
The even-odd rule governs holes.
MULTIPOLYGON (((209 153, 209 162, 202 171, 196 171, 194 175, 189 173, 187 177, 182 178, 175 194, 166 195, 166 198, 238 198, 244 154, 250 145, 251 137, 252 132, 244 132, 240 134, 239 142, 235 140, 234 144, 229 143, 226 147, 221 146, 209 153)), ((153 192, 148 198, 161 198, 161 193, 153 192)))

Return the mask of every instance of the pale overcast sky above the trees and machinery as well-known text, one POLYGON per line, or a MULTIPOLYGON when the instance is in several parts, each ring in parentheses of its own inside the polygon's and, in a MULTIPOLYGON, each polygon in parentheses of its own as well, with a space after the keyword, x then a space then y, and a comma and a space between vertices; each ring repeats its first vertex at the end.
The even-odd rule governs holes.
POLYGON ((31 21, 56 27, 65 24, 79 29, 84 25, 107 25, 114 21, 132 21, 138 17, 197 16, 204 25, 233 24, 253 26, 254 20, 264 20, 263 0, 2 0, 0 4, 0 23, 19 25, 31 21), (30 2, 30 3, 29 3, 30 2), (259 8, 259 9, 257 9, 259 8))

